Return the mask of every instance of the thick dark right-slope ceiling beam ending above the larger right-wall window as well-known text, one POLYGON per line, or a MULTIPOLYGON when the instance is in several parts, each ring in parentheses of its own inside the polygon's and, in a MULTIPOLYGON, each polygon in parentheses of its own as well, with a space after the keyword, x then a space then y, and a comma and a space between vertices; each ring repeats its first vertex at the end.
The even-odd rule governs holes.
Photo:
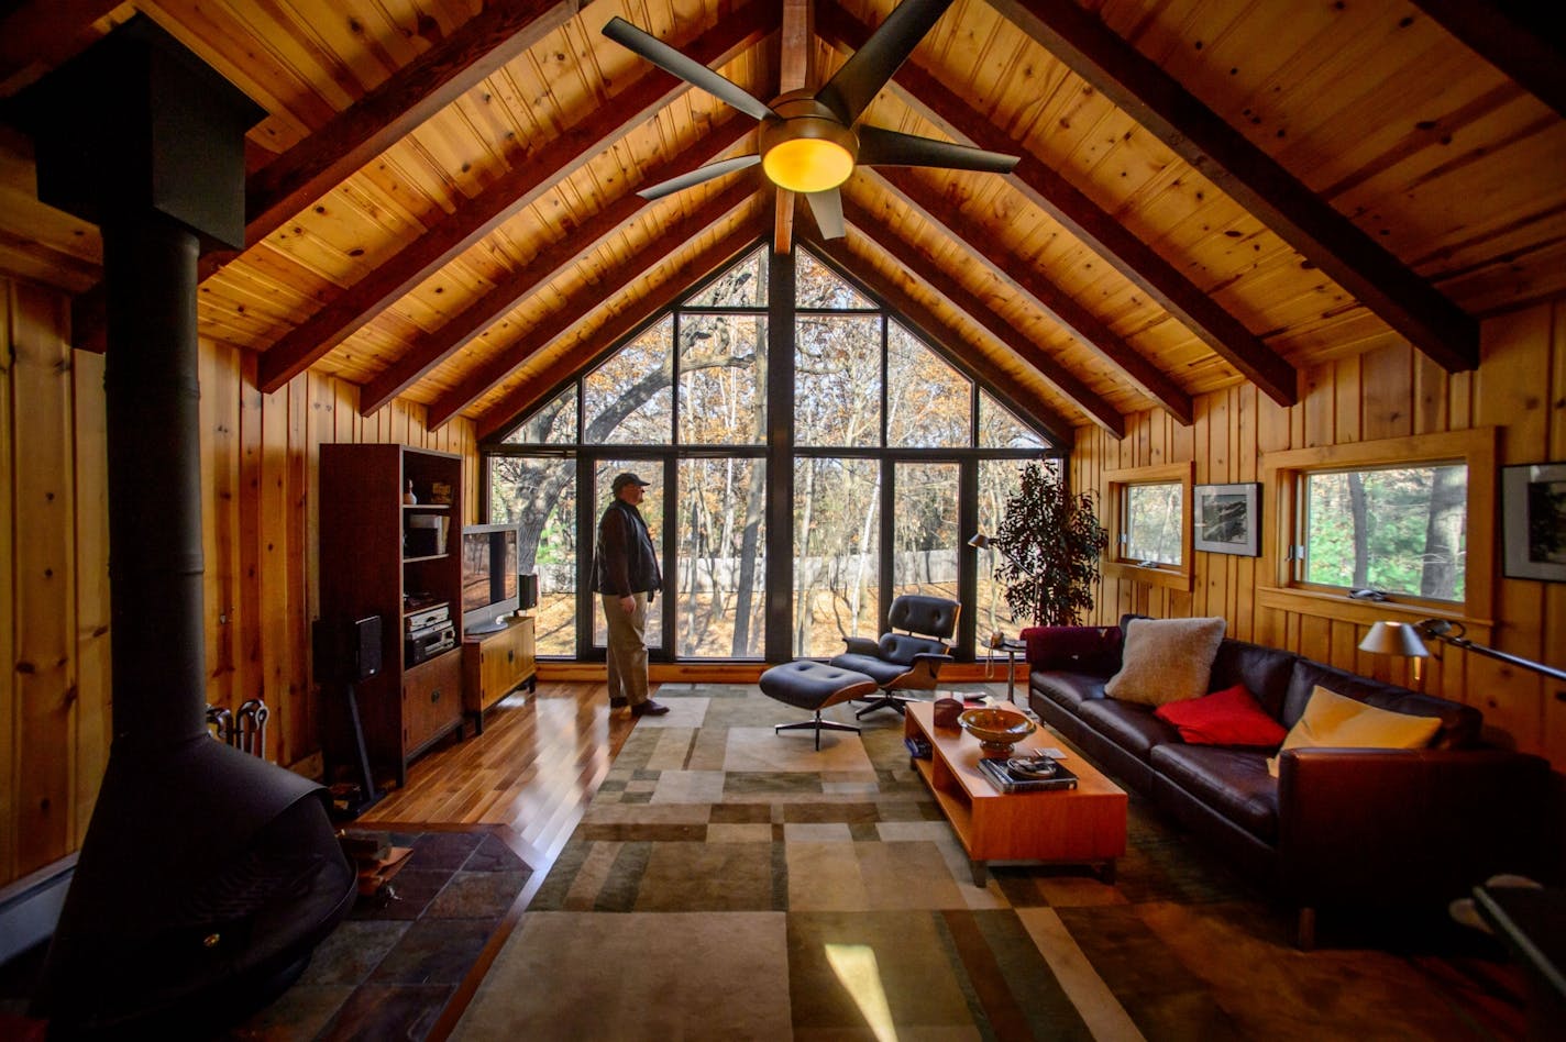
POLYGON ((1074 0, 990 0, 1203 177, 1442 368, 1478 366, 1478 321, 1074 0))

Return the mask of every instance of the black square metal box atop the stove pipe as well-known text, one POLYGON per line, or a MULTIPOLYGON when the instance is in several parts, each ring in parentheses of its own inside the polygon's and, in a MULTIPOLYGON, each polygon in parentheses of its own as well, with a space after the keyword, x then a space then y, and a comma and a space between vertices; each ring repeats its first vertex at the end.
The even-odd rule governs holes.
POLYGON ((232 249, 244 249, 244 131, 265 116, 146 16, 28 88, 13 111, 33 138, 39 200, 99 225, 150 207, 232 249))

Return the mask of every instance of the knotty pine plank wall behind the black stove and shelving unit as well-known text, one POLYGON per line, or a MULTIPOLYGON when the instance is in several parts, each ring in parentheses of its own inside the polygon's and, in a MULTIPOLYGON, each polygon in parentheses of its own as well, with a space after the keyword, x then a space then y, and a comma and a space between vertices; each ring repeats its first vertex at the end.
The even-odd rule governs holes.
MULTIPOLYGON (((0 887, 81 845, 111 737, 103 357, 69 347, 69 300, 0 280, 0 887)), ((315 770, 319 692, 315 480, 326 441, 465 457, 473 424, 424 427, 398 401, 359 415, 352 383, 302 374, 255 390, 255 355, 200 346, 207 701, 265 699, 268 759, 315 770)), ((150 605, 149 610, 155 610, 150 605)))

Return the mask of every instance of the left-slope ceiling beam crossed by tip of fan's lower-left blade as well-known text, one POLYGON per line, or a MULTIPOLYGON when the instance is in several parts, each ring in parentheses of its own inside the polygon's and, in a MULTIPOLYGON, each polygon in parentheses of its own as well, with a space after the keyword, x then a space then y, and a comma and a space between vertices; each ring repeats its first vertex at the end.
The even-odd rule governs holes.
MULTIPOLYGON (((739 142, 752 130, 755 130, 755 125, 747 119, 727 119, 705 138, 681 152, 680 158, 644 172, 642 183, 658 185, 686 171, 694 171, 739 142)), ((392 363, 381 375, 365 383, 359 393, 359 413, 370 416, 406 391, 426 372, 460 350, 468 341, 521 304, 523 299, 536 293, 539 286, 550 283, 583 255, 598 249, 600 243, 634 221, 645 207, 647 200, 633 191, 626 191, 578 227, 565 228, 564 235, 554 244, 531 257, 525 264, 511 272, 511 275, 495 283, 484 296, 446 319, 445 325, 418 336, 401 358, 392 363)))

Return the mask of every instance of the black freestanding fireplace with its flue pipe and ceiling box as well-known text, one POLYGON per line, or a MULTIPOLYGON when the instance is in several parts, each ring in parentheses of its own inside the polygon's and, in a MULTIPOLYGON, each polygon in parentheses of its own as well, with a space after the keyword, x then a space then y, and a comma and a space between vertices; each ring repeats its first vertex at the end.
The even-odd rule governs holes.
POLYGON ((39 199, 103 232, 114 687, 33 1012, 50 1037, 204 1037, 287 987, 355 895, 326 790, 205 726, 196 258, 199 236, 243 244, 260 110, 144 17, 33 91, 39 199))

